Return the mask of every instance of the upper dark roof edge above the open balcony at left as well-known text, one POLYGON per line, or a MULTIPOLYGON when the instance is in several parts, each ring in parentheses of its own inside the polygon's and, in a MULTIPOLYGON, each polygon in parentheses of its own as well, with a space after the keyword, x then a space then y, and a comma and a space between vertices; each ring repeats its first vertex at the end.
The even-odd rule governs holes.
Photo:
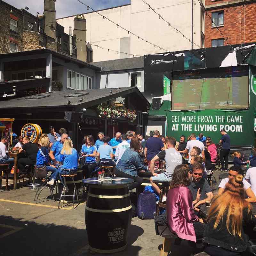
POLYGON ((66 53, 62 53, 62 52, 56 52, 50 49, 36 49, 36 50, 31 50, 31 51, 23 51, 23 52, 8 52, 8 53, 2 53, 0 54, 0 59, 4 60, 5 58, 13 58, 13 57, 20 57, 20 56, 28 56, 28 55, 34 55, 34 54, 41 54, 41 53, 52 53, 52 55, 54 57, 57 57, 59 59, 63 59, 66 60, 66 62, 73 62, 81 67, 84 68, 91 68, 94 70, 100 70, 100 68, 98 68, 95 65, 91 65, 85 61, 82 60, 77 60, 76 58, 73 58, 72 56, 69 56, 66 53))

